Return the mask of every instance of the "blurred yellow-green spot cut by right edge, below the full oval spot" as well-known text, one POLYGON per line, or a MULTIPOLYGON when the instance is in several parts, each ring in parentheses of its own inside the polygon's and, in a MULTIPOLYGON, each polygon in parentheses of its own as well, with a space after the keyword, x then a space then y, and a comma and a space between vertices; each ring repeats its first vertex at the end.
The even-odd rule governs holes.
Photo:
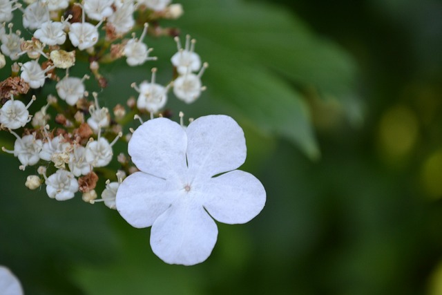
MULTIPOLYGON (((423 189, 433 199, 442 196, 442 149, 432 153, 421 170, 423 189)), ((442 278, 442 275, 441 275, 442 278)), ((442 295, 442 292, 440 293, 442 295)))

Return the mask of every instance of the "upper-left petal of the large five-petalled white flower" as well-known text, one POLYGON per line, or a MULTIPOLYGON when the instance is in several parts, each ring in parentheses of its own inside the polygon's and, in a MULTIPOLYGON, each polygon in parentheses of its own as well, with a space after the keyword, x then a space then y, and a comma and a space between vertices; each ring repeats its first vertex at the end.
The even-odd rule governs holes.
POLYGON ((148 120, 135 130, 128 153, 138 169, 159 178, 177 178, 186 170, 186 132, 166 118, 148 120))

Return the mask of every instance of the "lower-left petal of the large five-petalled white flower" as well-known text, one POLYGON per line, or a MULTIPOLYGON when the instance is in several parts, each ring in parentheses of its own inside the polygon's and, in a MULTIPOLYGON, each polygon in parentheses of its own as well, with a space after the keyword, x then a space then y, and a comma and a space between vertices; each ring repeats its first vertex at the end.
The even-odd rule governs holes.
POLYGON ((117 190, 117 211, 133 227, 150 227, 177 198, 170 184, 144 172, 129 175, 117 190))

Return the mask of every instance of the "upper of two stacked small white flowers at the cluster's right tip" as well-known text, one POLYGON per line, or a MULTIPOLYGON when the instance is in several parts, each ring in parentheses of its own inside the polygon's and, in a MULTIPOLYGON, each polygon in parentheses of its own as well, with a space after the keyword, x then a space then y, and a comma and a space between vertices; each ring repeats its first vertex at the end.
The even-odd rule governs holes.
POLYGON ((186 46, 184 49, 181 46, 180 38, 175 37, 177 42, 178 52, 172 58, 172 64, 177 68, 180 75, 190 72, 196 72, 201 67, 200 55, 195 51, 195 39, 191 39, 190 35, 186 35, 186 46))

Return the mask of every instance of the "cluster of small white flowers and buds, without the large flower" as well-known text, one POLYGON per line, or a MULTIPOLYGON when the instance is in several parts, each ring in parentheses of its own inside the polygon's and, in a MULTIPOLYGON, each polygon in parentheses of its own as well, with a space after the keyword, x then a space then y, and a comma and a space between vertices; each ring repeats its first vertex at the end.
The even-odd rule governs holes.
POLYGON ((11 64, 10 77, 0 82, 0 129, 15 137, 13 148, 3 146, 2 150, 17 157, 23 171, 28 166, 38 167, 37 173, 28 175, 26 187, 46 185, 48 196, 56 200, 68 200, 80 192, 86 202, 102 200, 115 209, 119 184, 137 171, 130 158, 124 154, 114 157, 113 153, 117 141, 131 138, 130 131, 124 135, 128 117, 135 114, 142 121, 143 114, 161 116, 171 88, 186 103, 194 102, 205 89, 201 77, 208 65, 195 53, 195 40, 186 36, 182 48, 176 29, 158 26, 160 19, 182 15, 182 6, 170 2, 0 0, 0 68, 11 64), (14 30, 11 22, 19 11, 24 33, 14 30), (153 22, 155 30, 149 30, 153 22), (137 28, 142 28, 140 37, 133 32, 137 28), (150 81, 131 85, 139 93, 136 100, 122 97, 126 106, 117 104, 112 111, 100 106, 99 99, 104 97, 89 93, 86 80, 93 77, 99 87, 106 87, 101 64, 126 59, 128 66, 142 66, 157 59, 144 43, 149 34, 175 37, 171 81, 157 84, 157 68, 152 68, 150 81), (88 62, 90 71, 82 77, 70 75, 76 61, 88 62), (37 89, 48 84, 55 84, 55 93, 39 97, 37 89), (46 99, 46 104, 32 113, 31 106, 38 99, 46 99), (106 168, 114 159, 119 163, 118 171, 106 168), (101 199, 97 199, 97 182, 108 178, 115 181, 107 180, 101 199))

